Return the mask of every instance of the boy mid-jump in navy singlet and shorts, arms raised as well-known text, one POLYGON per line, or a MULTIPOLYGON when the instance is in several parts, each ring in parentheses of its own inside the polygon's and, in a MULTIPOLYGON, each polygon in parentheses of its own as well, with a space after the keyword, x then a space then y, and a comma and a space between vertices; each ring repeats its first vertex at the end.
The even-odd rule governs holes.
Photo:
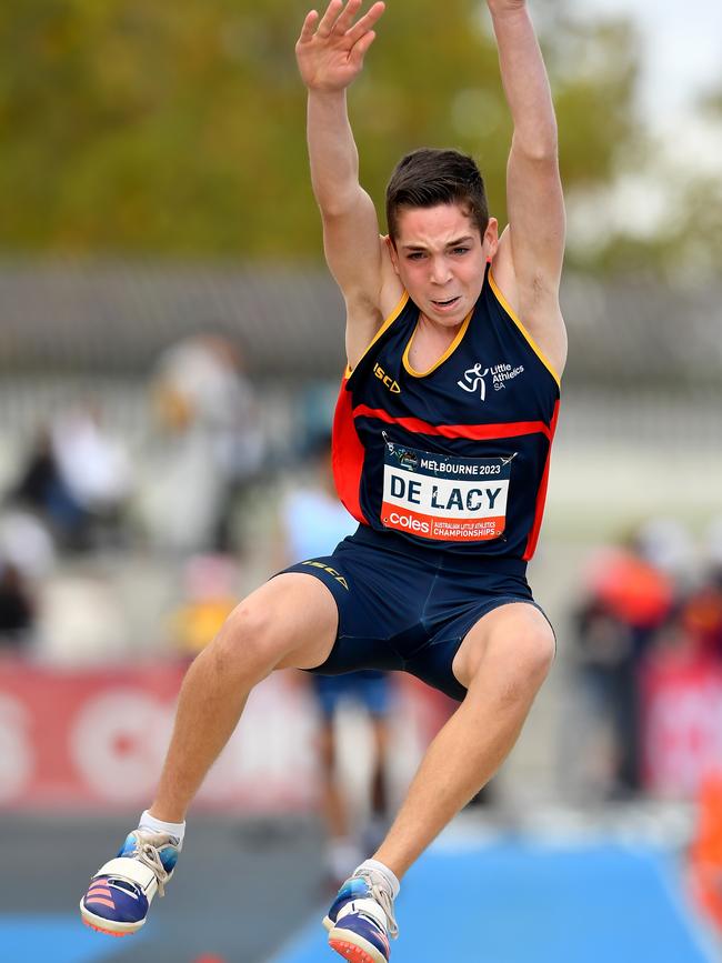
POLYGON ((138 930, 162 893, 188 805, 253 685, 290 665, 401 669, 460 705, 324 920, 342 956, 385 963, 399 880, 505 759, 553 659, 524 576, 566 350, 564 211, 539 44, 524 0, 488 0, 514 126, 501 237, 475 163, 424 149, 391 175, 380 239, 345 108, 384 10, 360 16, 361 3, 310 12, 297 44, 327 260, 347 304, 334 469, 359 530, 253 592, 190 668, 156 800, 81 901, 106 932, 138 930))

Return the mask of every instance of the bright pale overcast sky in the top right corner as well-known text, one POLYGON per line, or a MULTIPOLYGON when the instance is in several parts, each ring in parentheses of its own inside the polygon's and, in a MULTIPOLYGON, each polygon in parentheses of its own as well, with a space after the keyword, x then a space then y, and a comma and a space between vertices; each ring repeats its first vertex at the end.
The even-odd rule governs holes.
POLYGON ((645 43, 643 89, 648 111, 660 121, 678 114, 691 96, 722 86, 722 0, 578 0, 590 10, 639 20, 645 43))

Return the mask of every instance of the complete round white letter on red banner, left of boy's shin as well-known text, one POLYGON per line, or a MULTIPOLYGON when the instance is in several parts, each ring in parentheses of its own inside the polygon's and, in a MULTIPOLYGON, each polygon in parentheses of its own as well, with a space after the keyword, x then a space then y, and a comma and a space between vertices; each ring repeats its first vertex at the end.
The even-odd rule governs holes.
POLYGON ((138 689, 89 699, 70 732, 70 753, 103 799, 134 802, 152 794, 172 725, 173 706, 138 689))

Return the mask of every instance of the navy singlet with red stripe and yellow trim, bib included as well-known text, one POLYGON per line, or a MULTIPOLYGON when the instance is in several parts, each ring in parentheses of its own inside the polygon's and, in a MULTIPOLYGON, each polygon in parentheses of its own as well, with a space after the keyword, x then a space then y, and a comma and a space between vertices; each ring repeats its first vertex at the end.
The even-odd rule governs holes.
POLYGON ((428 371, 409 361, 404 293, 341 384, 333 469, 362 526, 417 546, 527 562, 541 528, 560 382, 487 267, 481 294, 428 371))

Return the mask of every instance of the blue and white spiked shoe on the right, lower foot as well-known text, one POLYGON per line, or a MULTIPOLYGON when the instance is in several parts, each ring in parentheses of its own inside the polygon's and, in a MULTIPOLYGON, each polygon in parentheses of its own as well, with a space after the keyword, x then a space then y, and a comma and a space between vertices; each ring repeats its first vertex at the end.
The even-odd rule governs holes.
POLYGON ((357 870, 345 881, 323 921, 329 946, 354 963, 389 963, 389 936, 399 935, 393 895, 381 873, 357 870))

